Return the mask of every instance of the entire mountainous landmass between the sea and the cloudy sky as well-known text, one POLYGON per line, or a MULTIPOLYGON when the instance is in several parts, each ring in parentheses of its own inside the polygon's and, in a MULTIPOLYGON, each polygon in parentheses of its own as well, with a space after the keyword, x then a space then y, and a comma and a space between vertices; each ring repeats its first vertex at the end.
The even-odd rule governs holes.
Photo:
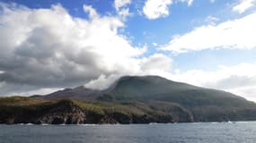
POLYGON ((45 96, 0 98, 0 123, 252 120, 256 120, 256 104, 243 97, 159 76, 125 76, 104 90, 81 86, 45 96))

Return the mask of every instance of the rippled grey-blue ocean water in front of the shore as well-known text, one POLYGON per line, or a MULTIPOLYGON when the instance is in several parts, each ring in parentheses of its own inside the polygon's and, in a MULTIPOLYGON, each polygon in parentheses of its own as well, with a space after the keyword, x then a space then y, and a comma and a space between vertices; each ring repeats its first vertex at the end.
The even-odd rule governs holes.
POLYGON ((0 125, 0 143, 256 143, 256 122, 0 125))

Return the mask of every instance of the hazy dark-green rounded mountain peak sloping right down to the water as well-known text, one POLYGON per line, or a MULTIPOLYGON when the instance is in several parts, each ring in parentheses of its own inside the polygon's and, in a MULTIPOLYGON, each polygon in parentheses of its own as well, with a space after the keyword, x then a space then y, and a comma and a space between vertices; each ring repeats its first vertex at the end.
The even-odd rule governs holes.
POLYGON ((195 122, 256 120, 256 104, 234 94, 166 80, 157 76, 124 77, 105 101, 148 100, 175 103, 190 111, 195 122))

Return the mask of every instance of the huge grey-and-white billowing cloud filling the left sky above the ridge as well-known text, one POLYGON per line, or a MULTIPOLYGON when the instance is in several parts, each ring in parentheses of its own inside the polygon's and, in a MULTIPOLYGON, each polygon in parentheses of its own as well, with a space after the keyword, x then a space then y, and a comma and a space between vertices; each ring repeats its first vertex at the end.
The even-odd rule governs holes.
POLYGON ((146 74, 156 68, 146 59, 161 63, 169 58, 143 57, 146 47, 131 46, 119 35, 125 26, 119 16, 102 17, 90 5, 84 4, 90 20, 72 17, 59 4, 49 9, 1 4, 0 10, 0 95, 42 93, 87 82, 105 88, 109 83, 103 79, 146 74))

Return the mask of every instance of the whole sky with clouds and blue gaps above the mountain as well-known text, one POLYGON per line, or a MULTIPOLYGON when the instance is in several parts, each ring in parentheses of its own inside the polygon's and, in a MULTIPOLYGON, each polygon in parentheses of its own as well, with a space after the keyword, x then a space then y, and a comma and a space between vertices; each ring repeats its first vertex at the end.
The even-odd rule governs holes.
POLYGON ((0 0, 0 96, 159 75, 256 101, 256 0, 0 0))

